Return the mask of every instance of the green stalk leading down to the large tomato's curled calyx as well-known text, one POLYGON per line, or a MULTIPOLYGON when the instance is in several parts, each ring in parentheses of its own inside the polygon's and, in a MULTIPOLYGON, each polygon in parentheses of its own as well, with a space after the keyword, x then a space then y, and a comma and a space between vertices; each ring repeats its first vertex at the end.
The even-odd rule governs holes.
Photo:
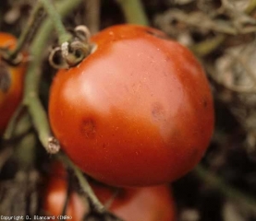
POLYGON ((55 25, 55 30, 59 36, 59 43, 62 44, 71 39, 71 35, 66 31, 59 13, 56 11, 53 1, 41 0, 43 7, 47 11, 51 21, 55 25))

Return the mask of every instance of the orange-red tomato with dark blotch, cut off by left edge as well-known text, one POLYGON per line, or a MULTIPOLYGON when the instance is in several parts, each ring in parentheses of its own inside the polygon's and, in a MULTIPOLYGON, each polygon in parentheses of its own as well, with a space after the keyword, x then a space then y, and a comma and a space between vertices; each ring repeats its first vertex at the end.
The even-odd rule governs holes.
MULTIPOLYGON (((17 40, 14 36, 0 32, 1 48, 13 49, 16 43, 17 40)), ((24 62, 12 66, 6 64, 0 55, 0 134, 5 131, 8 121, 22 98, 25 71, 26 64, 24 62)))

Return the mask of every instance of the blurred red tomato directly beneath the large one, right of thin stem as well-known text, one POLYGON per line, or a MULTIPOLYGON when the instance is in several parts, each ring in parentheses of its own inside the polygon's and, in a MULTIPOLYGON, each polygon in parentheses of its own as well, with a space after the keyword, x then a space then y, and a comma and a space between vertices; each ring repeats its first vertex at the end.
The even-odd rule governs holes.
MULTIPOLYGON (((92 186, 104 204, 111 200, 115 192, 107 187, 92 186)), ((139 189, 122 189, 109 210, 126 221, 175 221, 176 209, 170 190, 165 185, 139 189)))

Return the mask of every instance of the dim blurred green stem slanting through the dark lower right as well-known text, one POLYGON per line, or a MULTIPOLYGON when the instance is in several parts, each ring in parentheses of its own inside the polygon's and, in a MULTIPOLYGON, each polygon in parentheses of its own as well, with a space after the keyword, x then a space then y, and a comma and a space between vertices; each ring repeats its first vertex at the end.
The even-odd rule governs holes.
POLYGON ((226 197, 236 200, 240 205, 243 205, 244 210, 249 210, 256 214, 256 200, 250 196, 239 192, 236 188, 226 184, 224 180, 213 174, 213 172, 198 165, 195 169, 196 174, 204 180, 208 185, 218 189, 226 197))

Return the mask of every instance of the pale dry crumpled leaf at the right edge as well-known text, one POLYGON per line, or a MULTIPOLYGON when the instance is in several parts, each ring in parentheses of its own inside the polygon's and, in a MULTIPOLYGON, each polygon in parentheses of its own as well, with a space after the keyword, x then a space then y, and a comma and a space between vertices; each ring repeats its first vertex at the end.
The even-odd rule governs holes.
POLYGON ((225 88, 218 90, 238 122, 247 131, 250 150, 256 145, 256 42, 232 47, 216 61, 213 78, 225 88), (227 96, 228 95, 228 96, 227 96))

